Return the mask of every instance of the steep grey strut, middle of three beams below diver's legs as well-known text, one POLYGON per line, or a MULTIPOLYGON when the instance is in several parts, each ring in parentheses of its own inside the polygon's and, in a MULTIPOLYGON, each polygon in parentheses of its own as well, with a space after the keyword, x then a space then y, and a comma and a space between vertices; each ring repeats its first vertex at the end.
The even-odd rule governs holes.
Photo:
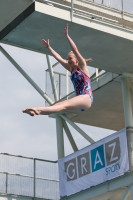
POLYGON ((71 132, 70 132, 70 130, 68 128, 68 125, 64 120, 63 120, 63 126, 64 126, 64 130, 66 132, 66 135, 68 137, 68 140, 69 140, 69 142, 70 142, 70 144, 71 144, 71 146, 73 148, 73 151, 75 151, 75 152, 78 151, 77 145, 76 145, 76 143, 75 143, 75 141, 74 141, 74 139, 72 137, 72 134, 71 134, 71 132))

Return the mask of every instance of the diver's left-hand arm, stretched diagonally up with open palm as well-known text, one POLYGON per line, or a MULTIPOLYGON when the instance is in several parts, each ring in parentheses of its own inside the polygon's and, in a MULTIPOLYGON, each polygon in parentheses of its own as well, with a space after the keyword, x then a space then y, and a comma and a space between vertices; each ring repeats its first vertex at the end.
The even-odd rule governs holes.
POLYGON ((68 71, 70 71, 70 67, 68 65, 68 63, 66 62, 65 59, 63 59, 51 46, 49 43, 49 39, 48 41, 42 39, 42 44, 45 48, 48 48, 49 51, 51 52, 52 56, 59 62, 61 63, 61 65, 63 65, 63 67, 65 67, 68 71))

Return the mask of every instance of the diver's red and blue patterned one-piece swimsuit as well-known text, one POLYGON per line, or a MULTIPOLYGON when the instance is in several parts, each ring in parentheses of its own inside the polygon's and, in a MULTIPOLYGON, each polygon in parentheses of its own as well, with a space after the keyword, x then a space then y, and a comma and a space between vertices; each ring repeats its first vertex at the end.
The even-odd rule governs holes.
POLYGON ((88 94, 91 98, 91 103, 93 103, 90 78, 79 68, 77 68, 76 72, 70 75, 70 78, 73 83, 76 96, 88 94))

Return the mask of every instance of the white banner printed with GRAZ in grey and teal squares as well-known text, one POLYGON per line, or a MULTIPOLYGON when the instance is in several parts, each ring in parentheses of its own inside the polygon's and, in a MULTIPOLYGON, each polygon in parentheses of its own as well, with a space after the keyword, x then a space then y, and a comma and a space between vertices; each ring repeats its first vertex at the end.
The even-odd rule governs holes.
POLYGON ((129 170, 126 129, 58 161, 60 196, 68 196, 129 170))

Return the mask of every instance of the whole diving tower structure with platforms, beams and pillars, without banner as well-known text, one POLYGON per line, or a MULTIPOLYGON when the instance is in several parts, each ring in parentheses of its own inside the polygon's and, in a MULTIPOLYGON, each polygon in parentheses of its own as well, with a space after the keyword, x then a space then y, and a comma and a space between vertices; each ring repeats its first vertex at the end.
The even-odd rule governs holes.
MULTIPOLYGON (((66 57, 69 46, 64 40, 64 24, 69 23, 70 35, 84 57, 91 57, 94 104, 86 112, 61 112, 49 117, 56 119, 58 158, 65 156, 63 129, 74 152, 78 147, 67 125, 70 124, 86 140, 94 144, 76 123, 119 131, 126 127, 129 172, 103 184, 83 190, 61 199, 82 200, 133 200, 133 12, 127 12, 125 1, 121 6, 109 6, 107 1, 87 0, 0 0, 0 42, 46 55, 53 91, 51 99, 32 80, 20 65, 0 46, 0 51, 39 92, 49 105, 74 96, 66 88, 66 96, 60 98, 53 67, 47 49, 41 39, 50 39, 52 47, 66 57), (8 13, 8 15, 6 14, 8 13), (80 38, 80 40, 79 40, 80 38), (104 73, 99 74, 100 70, 104 73), (67 123, 66 123, 67 122, 67 123)), ((119 2, 118 2, 119 3, 119 2)), ((132 4, 131 4, 132 6, 132 4)), ((68 86, 68 73, 66 85, 68 86)), ((34 197, 35 198, 35 197, 34 197)))

